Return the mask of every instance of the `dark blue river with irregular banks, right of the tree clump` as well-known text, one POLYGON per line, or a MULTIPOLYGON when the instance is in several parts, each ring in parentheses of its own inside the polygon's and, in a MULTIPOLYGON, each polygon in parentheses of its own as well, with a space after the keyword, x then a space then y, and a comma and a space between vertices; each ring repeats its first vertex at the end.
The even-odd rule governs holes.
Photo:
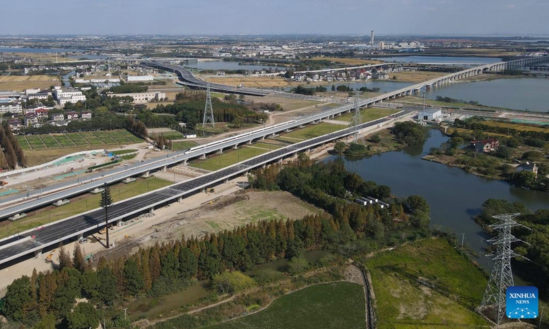
MULTIPOLYGON (((549 208, 549 193, 526 191, 500 180, 491 180, 466 173, 456 167, 422 160, 431 147, 439 147, 447 141, 439 130, 430 130, 423 145, 406 147, 371 158, 345 158, 349 171, 358 173, 364 180, 390 186, 393 195, 405 197, 421 195, 431 207, 431 226, 447 228, 461 237, 476 252, 485 253, 482 239, 490 236, 475 223, 473 217, 481 211, 484 201, 490 198, 522 202, 530 210, 549 208)), ((336 156, 325 159, 335 160, 336 156)), ((487 267, 486 257, 478 257, 478 263, 487 267)))

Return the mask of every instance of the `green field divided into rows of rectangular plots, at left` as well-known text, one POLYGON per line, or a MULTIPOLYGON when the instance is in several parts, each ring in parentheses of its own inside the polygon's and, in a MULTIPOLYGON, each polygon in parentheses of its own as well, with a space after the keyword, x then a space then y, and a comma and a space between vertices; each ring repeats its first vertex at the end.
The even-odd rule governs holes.
POLYGON ((125 145, 143 140, 127 130, 104 132, 67 132, 65 134, 41 134, 17 136, 23 150, 62 149, 67 147, 125 145))

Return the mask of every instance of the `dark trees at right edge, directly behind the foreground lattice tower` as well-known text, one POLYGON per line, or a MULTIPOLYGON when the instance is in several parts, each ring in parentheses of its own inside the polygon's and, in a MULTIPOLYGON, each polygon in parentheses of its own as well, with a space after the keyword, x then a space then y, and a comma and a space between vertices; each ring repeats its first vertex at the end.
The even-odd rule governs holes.
POLYGON ((494 215, 517 213, 521 215, 515 221, 527 226, 526 228, 513 228, 513 235, 526 243, 513 243, 513 249, 518 254, 531 261, 522 261, 517 258, 513 269, 519 269, 523 278, 535 282, 542 295, 549 293, 547 278, 549 277, 549 209, 540 209, 531 212, 520 202, 509 202, 504 199, 488 199, 482 204, 482 213, 475 217, 476 221, 484 228, 495 223, 494 215))

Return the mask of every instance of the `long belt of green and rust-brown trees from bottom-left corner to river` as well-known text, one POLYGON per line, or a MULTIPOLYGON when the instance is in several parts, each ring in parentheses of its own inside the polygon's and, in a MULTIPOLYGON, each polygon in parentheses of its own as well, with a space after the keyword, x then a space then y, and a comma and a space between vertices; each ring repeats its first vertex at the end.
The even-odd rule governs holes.
MULTIPOLYGON (((71 329, 95 328, 100 318, 97 308, 101 310, 102 306, 116 304, 120 299, 176 293, 196 279, 215 277, 219 283, 222 276, 218 274, 226 270, 246 270, 277 258, 302 256, 307 250, 347 243, 357 235, 383 236, 384 228, 426 225, 419 217, 428 213, 429 206, 417 195, 393 203, 388 209, 344 202, 340 197, 348 194, 346 188, 370 194, 388 188, 362 182, 354 173, 347 173, 340 162, 312 164, 301 157, 290 167, 279 169, 272 166, 256 175, 268 175, 268 180, 278 181, 281 188, 292 188, 292 193, 315 193, 308 199, 329 209, 332 215, 309 215, 296 221, 260 221, 230 232, 206 234, 202 239, 191 236, 156 243, 125 259, 101 258, 97 269, 91 269, 84 261, 84 253, 77 244, 72 258, 60 250, 59 265, 54 271, 34 271, 31 278, 23 276, 12 282, 5 295, 3 313, 26 326, 58 319, 66 320, 71 329), (317 175, 318 182, 311 175, 317 175), (296 178, 307 178, 306 184, 292 183, 296 178), (75 299, 81 297, 89 300, 89 304, 81 303, 84 306, 79 304, 71 312, 75 299)), ((388 191, 381 193, 387 195, 388 191)))

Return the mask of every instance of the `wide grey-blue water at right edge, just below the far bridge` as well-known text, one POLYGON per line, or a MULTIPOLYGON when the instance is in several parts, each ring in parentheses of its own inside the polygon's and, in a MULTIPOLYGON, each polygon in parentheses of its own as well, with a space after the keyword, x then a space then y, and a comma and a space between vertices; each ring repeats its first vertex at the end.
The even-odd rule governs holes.
POLYGON ((456 82, 427 90, 425 97, 436 96, 478 101, 482 105, 549 112, 547 102, 549 79, 543 77, 520 77, 491 81, 456 82))

